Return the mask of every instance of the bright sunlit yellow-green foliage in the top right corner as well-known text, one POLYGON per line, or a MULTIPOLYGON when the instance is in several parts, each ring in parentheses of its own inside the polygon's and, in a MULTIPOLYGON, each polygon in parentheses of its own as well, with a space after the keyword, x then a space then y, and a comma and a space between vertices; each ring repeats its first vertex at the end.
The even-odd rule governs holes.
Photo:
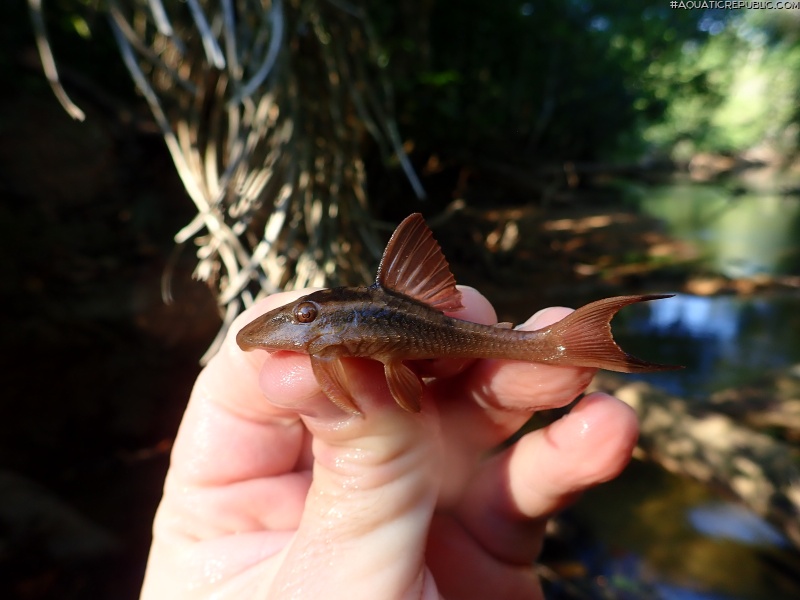
POLYGON ((665 118, 645 130, 649 142, 663 148, 683 140, 689 155, 762 143, 782 152, 796 147, 800 46, 762 29, 758 15, 746 12, 704 45, 684 50, 672 68, 687 85, 668 96, 665 118))

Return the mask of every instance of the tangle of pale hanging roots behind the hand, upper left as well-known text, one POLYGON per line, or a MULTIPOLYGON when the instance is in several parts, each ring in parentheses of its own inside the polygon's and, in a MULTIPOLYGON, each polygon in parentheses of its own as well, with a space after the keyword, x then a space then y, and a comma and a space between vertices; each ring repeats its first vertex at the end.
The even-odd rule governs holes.
MULTIPOLYGON (((78 118, 58 83, 39 0, 29 5, 48 79, 78 118)), ((381 242, 366 197, 365 134, 424 192, 385 110, 390 93, 363 8, 325 0, 107 7, 197 207, 175 240, 197 245, 195 277, 216 289, 224 315, 203 361, 263 296, 367 281, 381 242)))

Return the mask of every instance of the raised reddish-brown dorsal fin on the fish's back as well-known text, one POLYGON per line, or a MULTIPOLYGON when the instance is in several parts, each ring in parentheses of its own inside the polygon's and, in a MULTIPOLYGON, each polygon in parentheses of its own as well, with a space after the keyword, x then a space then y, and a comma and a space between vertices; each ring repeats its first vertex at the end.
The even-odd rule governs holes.
POLYGON ((419 213, 406 217, 394 230, 375 283, 437 310, 464 308, 442 249, 419 213))

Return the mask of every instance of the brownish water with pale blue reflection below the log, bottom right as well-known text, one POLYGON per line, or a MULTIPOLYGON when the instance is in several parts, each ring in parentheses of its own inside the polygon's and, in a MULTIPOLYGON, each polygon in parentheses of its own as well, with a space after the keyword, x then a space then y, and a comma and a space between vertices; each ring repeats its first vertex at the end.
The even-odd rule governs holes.
POLYGON ((636 582, 670 600, 800 598, 800 559, 778 532, 655 465, 632 463, 587 492, 575 513, 595 536, 582 562, 607 582, 636 582))

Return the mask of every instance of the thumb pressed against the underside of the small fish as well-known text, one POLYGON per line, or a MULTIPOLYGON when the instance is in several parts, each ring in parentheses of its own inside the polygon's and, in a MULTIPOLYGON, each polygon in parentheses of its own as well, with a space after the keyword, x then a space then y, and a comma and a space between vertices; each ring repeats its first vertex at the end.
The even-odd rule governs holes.
POLYGON ((363 416, 342 412, 316 385, 308 357, 270 355, 267 400, 301 414, 313 479, 305 510, 274 580, 281 597, 437 597, 425 545, 440 478, 438 415, 431 402, 398 407, 375 361, 348 359, 363 416))

